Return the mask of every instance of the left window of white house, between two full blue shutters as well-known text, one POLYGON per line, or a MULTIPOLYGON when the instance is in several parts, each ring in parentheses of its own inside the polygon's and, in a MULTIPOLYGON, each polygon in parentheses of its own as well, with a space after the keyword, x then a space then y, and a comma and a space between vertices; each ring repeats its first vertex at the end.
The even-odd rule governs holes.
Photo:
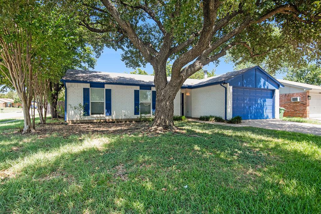
POLYGON ((104 114, 104 89, 90 89, 90 105, 91 115, 104 114))

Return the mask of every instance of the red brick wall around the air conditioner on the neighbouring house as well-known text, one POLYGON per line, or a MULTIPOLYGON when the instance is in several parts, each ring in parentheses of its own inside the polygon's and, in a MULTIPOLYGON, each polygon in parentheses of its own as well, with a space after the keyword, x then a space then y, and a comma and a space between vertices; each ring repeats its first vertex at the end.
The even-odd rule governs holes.
POLYGON ((285 108, 285 117, 309 117, 309 92, 280 94, 280 107, 285 108), (300 102, 292 102, 292 97, 300 97, 300 102))

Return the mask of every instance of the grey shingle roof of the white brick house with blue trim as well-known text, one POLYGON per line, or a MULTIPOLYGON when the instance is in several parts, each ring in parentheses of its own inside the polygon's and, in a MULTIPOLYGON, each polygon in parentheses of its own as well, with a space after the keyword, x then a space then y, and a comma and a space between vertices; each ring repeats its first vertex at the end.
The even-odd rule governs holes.
MULTIPOLYGON (((187 79, 184 82, 182 88, 198 88, 198 87, 203 87, 207 85, 224 83, 225 81, 230 80, 254 68, 260 68, 260 70, 266 73, 260 66, 253 66, 253 67, 241 69, 238 71, 224 73, 219 76, 204 78, 201 80, 187 79)), ((268 73, 266 74, 271 78, 273 78, 268 73)), ((276 79, 274 80, 277 81, 276 79)), ((68 69, 65 76, 61 79, 61 81, 63 82, 102 82, 106 84, 154 86, 154 76, 152 75, 111 73, 111 72, 76 70, 76 69, 68 69)), ((167 77, 167 81, 170 81, 170 77, 167 77)), ((280 84, 280 86, 283 86, 282 83, 280 83, 279 81, 277 82, 280 84)))

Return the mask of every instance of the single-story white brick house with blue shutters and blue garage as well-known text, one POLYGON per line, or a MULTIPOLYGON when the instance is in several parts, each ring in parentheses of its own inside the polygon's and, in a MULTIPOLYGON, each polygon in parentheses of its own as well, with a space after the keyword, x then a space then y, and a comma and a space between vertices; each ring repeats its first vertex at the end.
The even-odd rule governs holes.
MULTIPOLYGON (((69 69, 61 79, 65 85, 65 120, 80 119, 74 108, 79 104, 84 106, 88 121, 152 116, 157 96, 153 80, 151 75, 69 69)), ((259 66, 201 80, 187 79, 174 99, 174 115, 279 118, 280 87, 282 83, 259 66)))

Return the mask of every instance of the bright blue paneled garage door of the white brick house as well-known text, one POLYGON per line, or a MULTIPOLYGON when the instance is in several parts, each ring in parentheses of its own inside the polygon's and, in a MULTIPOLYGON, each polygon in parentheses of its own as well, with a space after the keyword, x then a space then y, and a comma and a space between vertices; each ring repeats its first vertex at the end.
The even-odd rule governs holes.
POLYGON ((274 90, 249 89, 233 86, 232 116, 248 119, 271 119, 274 117, 274 90))

